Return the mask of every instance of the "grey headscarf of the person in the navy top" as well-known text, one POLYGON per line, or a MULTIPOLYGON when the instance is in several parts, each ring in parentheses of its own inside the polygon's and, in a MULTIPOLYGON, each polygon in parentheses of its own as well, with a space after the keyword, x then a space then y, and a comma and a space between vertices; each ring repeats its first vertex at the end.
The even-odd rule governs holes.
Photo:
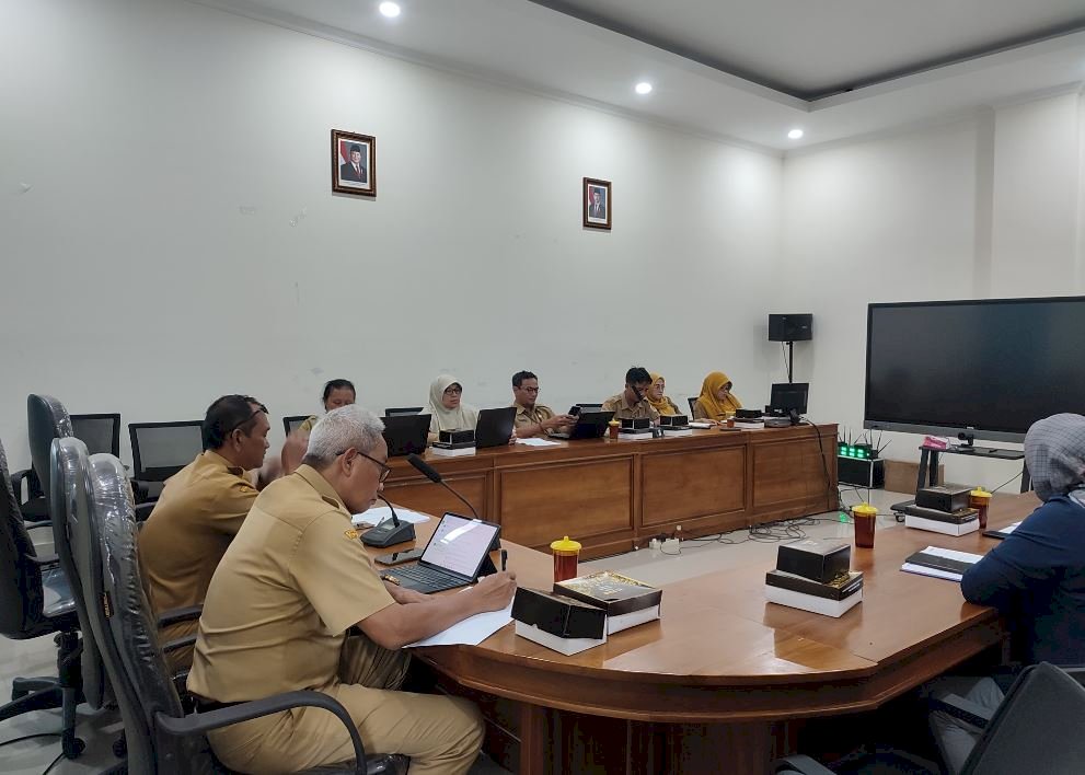
POLYGON ((1025 435, 1025 463, 1040 500, 1073 494, 1081 502, 1085 495, 1085 417, 1061 414, 1034 423, 1025 435))

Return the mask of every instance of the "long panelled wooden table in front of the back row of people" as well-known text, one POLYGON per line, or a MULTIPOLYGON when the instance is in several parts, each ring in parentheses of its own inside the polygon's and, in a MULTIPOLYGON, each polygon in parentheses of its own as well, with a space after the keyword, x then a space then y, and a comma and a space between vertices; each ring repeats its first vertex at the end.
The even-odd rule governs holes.
MULTIPOLYGON (((563 535, 582 557, 628 552, 666 533, 695 536, 836 507, 836 426, 695 429, 643 441, 586 439, 425 460, 501 536, 549 551, 563 535), (819 439, 820 436, 820 439, 819 439)), ((384 495, 419 511, 463 505, 407 463, 389 461, 384 495)))

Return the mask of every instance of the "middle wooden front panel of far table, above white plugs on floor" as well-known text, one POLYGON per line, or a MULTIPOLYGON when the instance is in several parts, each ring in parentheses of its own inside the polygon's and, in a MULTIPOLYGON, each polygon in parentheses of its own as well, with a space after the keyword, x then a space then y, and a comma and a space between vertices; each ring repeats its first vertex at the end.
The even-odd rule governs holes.
POLYGON ((747 447, 648 454, 642 462, 645 527, 739 511, 746 500, 747 447))

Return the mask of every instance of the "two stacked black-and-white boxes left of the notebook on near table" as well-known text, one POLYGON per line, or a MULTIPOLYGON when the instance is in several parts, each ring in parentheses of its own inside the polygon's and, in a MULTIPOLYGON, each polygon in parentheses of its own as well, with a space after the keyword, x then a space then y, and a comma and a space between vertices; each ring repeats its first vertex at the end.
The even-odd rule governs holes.
POLYGON ((776 567, 765 574, 765 598, 838 618, 863 602, 863 572, 849 570, 851 545, 809 540, 781 546, 776 567))

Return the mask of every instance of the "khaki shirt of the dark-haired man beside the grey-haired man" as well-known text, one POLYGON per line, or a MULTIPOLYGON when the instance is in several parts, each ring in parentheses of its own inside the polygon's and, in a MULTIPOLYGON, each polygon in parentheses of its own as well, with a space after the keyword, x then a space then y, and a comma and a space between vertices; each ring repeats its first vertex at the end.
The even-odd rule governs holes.
MULTIPOLYGON (((211 575, 256 500, 243 469, 210 450, 171 476, 139 533, 155 613, 204 602, 211 575)), ((165 637, 196 631, 195 622, 165 637)))

